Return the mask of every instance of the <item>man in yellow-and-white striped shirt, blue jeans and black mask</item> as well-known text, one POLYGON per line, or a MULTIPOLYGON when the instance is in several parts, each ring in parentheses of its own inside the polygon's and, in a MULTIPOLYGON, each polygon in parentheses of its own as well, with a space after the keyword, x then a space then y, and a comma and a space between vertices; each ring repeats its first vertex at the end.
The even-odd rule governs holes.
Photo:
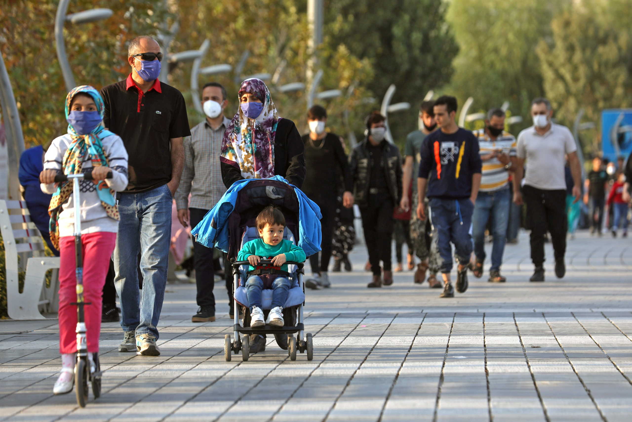
POLYGON ((474 214, 472 216, 472 237, 474 238, 475 261, 470 263, 474 275, 483 275, 485 261, 485 229, 491 219, 492 266, 489 270, 489 282, 502 283, 502 254, 505 249, 507 223, 511 193, 509 190, 509 171, 513 171, 516 160, 516 138, 505 132, 505 112, 491 109, 487 113, 485 128, 475 130, 480 146, 480 158, 483 162, 482 179, 474 214))

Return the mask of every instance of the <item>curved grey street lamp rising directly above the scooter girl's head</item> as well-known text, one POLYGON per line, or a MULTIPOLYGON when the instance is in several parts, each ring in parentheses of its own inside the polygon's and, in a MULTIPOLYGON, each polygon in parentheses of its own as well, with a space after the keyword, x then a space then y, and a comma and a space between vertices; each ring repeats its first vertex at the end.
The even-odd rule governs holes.
POLYGON ((70 3, 70 0, 60 0, 57 6, 57 14, 55 16, 55 47, 57 50, 59 66, 61 67, 61 74, 63 75, 64 83, 66 84, 66 90, 70 91, 76 85, 73 71, 70 68, 70 63, 68 63, 68 56, 66 56, 64 22, 69 21, 73 24, 95 22, 97 20, 109 18, 114 12, 110 9, 91 9, 66 16, 68 3, 70 3))

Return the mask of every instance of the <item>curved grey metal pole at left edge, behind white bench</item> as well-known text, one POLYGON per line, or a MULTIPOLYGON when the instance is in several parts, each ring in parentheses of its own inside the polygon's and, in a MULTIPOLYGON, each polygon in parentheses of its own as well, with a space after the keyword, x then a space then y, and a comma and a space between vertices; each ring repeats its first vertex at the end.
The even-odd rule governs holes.
POLYGON ((9 74, 4 66, 4 59, 0 54, 0 107, 4 115, 4 127, 6 130, 6 142, 8 152, 8 187, 11 199, 20 199, 20 181, 18 180, 18 169, 20 167, 20 156, 24 151, 24 136, 20 125, 20 115, 18 106, 13 96, 13 88, 9 80, 9 74))

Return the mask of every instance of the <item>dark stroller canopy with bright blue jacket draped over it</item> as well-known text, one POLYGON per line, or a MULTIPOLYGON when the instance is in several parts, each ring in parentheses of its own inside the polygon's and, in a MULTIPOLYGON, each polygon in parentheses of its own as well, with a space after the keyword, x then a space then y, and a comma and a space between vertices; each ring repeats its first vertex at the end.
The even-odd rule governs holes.
POLYGON ((234 258, 244 228, 253 227, 257 214, 269 205, 281 209, 287 227, 295 233, 297 244, 305 255, 320 251, 322 215, 319 206, 281 176, 233 183, 191 234, 198 243, 217 247, 228 252, 229 258, 234 258))

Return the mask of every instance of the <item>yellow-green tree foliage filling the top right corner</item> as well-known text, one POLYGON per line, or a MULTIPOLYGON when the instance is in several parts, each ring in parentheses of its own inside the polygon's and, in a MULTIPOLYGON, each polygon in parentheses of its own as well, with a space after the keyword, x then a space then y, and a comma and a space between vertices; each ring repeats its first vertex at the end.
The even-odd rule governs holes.
POLYGON ((627 4, 629 11, 632 1, 612 3, 613 9, 591 1, 569 8, 552 21, 552 37, 538 44, 545 91, 566 125, 582 108, 586 120, 598 122, 602 109, 632 106, 632 30, 617 8, 627 4))

